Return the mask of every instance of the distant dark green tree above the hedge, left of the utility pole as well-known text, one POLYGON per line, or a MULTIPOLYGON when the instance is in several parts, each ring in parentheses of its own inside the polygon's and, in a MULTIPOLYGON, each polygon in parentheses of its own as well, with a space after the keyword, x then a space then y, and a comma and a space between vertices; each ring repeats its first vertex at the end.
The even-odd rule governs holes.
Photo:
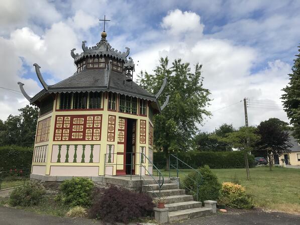
POLYGON ((214 136, 221 138, 226 137, 226 134, 235 132, 236 130, 230 124, 222 124, 218 129, 212 133, 199 133, 195 136, 195 144, 198 151, 231 151, 232 147, 226 142, 221 142, 214 136))

